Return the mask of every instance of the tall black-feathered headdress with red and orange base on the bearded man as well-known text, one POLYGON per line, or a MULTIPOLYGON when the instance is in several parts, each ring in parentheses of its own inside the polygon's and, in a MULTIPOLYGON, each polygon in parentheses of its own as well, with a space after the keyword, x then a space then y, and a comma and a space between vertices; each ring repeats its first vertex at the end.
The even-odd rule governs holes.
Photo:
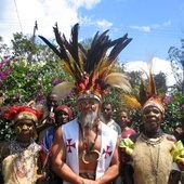
POLYGON ((61 35, 57 25, 55 25, 54 34, 58 49, 44 37, 39 36, 60 56, 66 70, 75 80, 75 83, 57 84, 53 91, 65 95, 69 89, 75 89, 79 96, 78 100, 93 96, 100 101, 108 87, 130 91, 130 83, 126 75, 115 73, 118 54, 132 40, 128 38, 128 34, 111 41, 107 36, 108 30, 101 35, 96 32, 90 49, 86 51, 78 42, 78 29, 79 24, 76 24, 71 28, 71 38, 67 41, 65 35, 61 35), (108 52, 109 49, 111 49, 110 52, 108 52))

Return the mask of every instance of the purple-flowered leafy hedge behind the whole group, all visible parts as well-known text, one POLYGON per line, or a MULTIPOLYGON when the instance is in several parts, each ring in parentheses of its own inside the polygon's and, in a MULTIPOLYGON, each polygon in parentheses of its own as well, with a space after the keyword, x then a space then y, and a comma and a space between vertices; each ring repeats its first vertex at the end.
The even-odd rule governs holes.
MULTIPOLYGON (((12 105, 14 103, 27 103, 34 100, 40 104, 45 102, 45 96, 51 89, 62 82, 71 81, 67 73, 65 73, 61 62, 39 62, 28 64, 23 58, 13 60, 9 56, 0 61, 0 106, 12 105)), ((134 88, 137 93, 137 87, 134 88)), ((115 117, 122 104, 123 91, 110 89, 109 94, 104 95, 104 101, 111 101, 115 105, 115 117)), ((76 108, 76 95, 69 94, 61 101, 61 104, 68 105, 74 117, 78 111, 76 108)), ((167 133, 172 133, 176 127, 181 127, 184 114, 184 95, 172 94, 165 96, 166 118, 162 128, 167 133)), ((2 108, 1 107, 1 108, 2 108)), ((142 124, 141 110, 132 107, 130 110, 132 127, 140 131, 142 124)), ((14 134, 9 121, 0 120, 0 140, 10 140, 14 134)))

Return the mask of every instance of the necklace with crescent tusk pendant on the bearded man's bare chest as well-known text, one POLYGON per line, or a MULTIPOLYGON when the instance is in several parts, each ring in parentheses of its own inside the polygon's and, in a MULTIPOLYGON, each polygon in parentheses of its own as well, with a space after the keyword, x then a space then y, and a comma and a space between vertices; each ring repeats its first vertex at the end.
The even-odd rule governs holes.
POLYGON ((84 163, 89 163, 89 161, 86 160, 86 156, 87 156, 87 155, 90 155, 90 154, 97 154, 97 159, 96 159, 96 160, 98 160, 98 158, 100 158, 100 152, 98 152, 97 149, 93 149, 93 148, 94 148, 94 145, 95 145, 95 143, 96 143, 97 136, 98 136, 98 124, 95 126, 96 134, 95 134, 94 140, 91 141, 92 144, 91 144, 90 147, 88 146, 89 140, 87 140, 86 134, 84 134, 84 131, 82 130, 82 127, 81 127, 80 122, 79 122, 79 128, 80 128, 80 132, 81 132, 81 134, 82 134, 82 142, 83 142, 83 147, 84 147, 83 154, 82 154, 82 161, 83 161, 84 163))

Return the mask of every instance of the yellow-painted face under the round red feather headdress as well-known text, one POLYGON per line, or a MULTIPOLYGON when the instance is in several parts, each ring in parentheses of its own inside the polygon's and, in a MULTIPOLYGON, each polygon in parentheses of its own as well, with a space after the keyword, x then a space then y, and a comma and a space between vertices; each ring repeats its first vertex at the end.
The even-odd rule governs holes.
POLYGON ((30 140, 35 132, 35 123, 30 119, 21 119, 15 123, 16 136, 22 141, 30 140))

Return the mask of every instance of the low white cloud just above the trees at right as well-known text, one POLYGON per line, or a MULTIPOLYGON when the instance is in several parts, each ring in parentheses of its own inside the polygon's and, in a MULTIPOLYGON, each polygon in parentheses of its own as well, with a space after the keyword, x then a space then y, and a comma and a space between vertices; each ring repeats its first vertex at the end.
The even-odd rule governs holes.
MULTIPOLYGON (((167 84, 168 86, 172 86, 173 83, 175 83, 175 79, 172 75, 171 71, 171 65, 169 61, 165 61, 165 60, 160 60, 158 57, 154 57, 153 58, 153 73, 159 74, 165 73, 167 75, 167 84)), ((132 71, 132 70, 145 70, 146 73, 148 71, 148 64, 146 62, 142 62, 142 61, 134 61, 134 62, 128 62, 126 63, 126 70, 127 71, 132 71)))

